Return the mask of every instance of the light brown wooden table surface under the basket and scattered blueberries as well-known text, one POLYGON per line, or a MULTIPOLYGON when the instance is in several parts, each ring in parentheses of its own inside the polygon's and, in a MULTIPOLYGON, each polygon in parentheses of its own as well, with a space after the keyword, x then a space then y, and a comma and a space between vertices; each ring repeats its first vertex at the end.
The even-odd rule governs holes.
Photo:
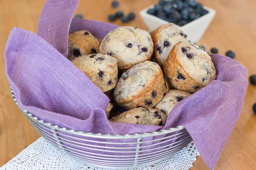
MULTIPOLYGON (((80 0, 77 13, 84 19, 108 22, 108 15, 118 9, 125 14, 135 12, 136 19, 123 24, 148 30, 139 11, 157 0, 118 0, 120 6, 110 6, 112 0, 80 0)), ((209 50, 217 47, 219 54, 236 52, 236 60, 248 68, 248 76, 256 74, 256 1, 255 0, 198 0, 217 11, 216 16, 198 44, 209 50)), ((0 0, 0 167, 41 137, 13 102, 5 76, 4 48, 13 27, 37 31, 39 16, 45 0, 0 0)), ((236 126, 227 141, 215 170, 256 169, 256 85, 248 83, 244 106, 236 126)), ((207 170, 198 156, 190 170, 207 170)))

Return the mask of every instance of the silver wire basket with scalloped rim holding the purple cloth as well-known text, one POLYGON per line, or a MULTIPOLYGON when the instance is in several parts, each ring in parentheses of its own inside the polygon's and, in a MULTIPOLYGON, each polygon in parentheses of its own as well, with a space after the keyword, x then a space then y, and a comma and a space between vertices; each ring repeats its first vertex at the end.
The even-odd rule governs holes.
MULTIPOLYGON (((10 92, 15 104, 14 93, 10 92)), ((134 169, 153 165, 180 151, 192 138, 183 126, 161 132, 110 135, 68 130, 23 112, 35 130, 52 146, 87 165, 107 169, 134 169)))

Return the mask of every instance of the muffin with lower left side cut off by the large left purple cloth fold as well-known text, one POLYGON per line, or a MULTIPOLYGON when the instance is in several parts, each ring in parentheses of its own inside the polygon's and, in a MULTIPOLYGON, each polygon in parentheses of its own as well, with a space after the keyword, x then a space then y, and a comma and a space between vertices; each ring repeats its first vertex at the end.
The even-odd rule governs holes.
POLYGON ((110 55, 90 54, 71 61, 102 91, 113 89, 117 83, 117 59, 110 55))

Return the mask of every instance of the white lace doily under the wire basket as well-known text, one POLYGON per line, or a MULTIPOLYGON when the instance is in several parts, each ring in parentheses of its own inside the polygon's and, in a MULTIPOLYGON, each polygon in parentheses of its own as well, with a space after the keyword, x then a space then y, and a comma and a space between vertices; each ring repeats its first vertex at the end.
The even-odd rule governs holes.
MULTIPOLYGON (((135 170, 188 170, 196 160, 199 152, 191 142, 187 147, 172 156, 151 166, 135 170)), ((26 147, 11 161, 0 167, 0 170, 109 170, 85 165, 55 149, 52 145, 39 138, 26 147)))

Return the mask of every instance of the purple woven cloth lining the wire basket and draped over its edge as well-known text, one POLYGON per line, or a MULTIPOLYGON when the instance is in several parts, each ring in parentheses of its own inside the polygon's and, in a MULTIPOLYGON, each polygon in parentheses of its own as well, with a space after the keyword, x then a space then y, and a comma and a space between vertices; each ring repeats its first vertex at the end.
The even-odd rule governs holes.
POLYGON ((67 38, 68 32, 88 30, 101 41, 118 26, 82 19, 71 22, 77 6, 77 0, 49 0, 37 35, 12 29, 5 47, 5 71, 19 106, 46 122, 92 133, 151 133, 182 125, 213 170, 241 113, 246 68, 213 54, 217 80, 178 103, 164 127, 110 122, 104 111, 108 97, 66 58, 67 38))

